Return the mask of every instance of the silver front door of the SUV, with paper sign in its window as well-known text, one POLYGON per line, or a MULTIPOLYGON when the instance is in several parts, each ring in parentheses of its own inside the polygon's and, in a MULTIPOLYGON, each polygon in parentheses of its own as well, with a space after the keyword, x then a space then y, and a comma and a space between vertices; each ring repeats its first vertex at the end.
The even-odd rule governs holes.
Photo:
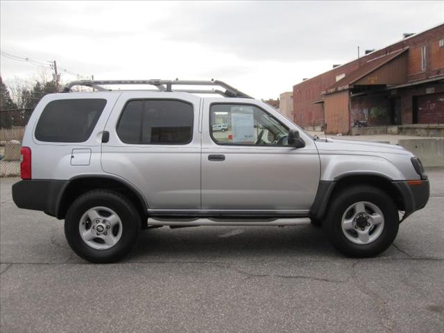
POLYGON ((321 167, 305 133, 305 147, 288 146, 294 123, 259 101, 205 99, 202 128, 203 210, 307 214, 321 167))

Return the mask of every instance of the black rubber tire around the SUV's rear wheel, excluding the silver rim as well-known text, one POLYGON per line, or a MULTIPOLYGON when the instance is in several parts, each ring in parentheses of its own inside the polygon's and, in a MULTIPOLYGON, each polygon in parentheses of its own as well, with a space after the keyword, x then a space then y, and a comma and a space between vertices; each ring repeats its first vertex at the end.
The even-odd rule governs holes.
POLYGON ((94 190, 79 196, 65 216, 65 237, 74 252, 88 262, 107 264, 117 262, 133 248, 141 230, 142 221, 133 203, 121 194, 109 190, 94 190), (92 207, 107 207, 116 212, 121 225, 117 244, 105 250, 92 248, 80 236, 79 223, 83 214, 92 207))

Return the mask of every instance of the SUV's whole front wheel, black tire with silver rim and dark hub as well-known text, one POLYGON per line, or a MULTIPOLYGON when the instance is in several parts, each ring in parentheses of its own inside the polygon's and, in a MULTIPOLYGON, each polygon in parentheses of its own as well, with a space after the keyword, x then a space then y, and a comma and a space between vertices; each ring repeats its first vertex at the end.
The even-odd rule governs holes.
POLYGON ((348 187, 332 200, 323 226, 341 253, 350 257, 373 257, 395 240, 399 228, 398 208, 380 189, 348 187))

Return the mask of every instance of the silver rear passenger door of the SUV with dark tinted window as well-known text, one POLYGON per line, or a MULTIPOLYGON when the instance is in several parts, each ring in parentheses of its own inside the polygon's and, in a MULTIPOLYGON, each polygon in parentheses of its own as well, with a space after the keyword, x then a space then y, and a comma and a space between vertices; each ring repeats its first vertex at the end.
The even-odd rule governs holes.
POLYGON ((102 144, 103 171, 124 178, 149 210, 200 209, 200 98, 173 92, 124 92, 102 144))

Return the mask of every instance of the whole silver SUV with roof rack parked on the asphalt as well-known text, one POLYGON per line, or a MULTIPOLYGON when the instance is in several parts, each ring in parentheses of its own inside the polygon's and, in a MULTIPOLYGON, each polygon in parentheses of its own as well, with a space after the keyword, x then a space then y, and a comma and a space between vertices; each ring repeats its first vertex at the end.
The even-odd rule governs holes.
POLYGON ((69 245, 90 262, 121 259, 142 229, 163 225, 313 223, 345 255, 370 257, 429 198, 404 148, 311 137, 216 80, 70 83, 37 105, 22 155, 15 204, 65 219, 69 245))

